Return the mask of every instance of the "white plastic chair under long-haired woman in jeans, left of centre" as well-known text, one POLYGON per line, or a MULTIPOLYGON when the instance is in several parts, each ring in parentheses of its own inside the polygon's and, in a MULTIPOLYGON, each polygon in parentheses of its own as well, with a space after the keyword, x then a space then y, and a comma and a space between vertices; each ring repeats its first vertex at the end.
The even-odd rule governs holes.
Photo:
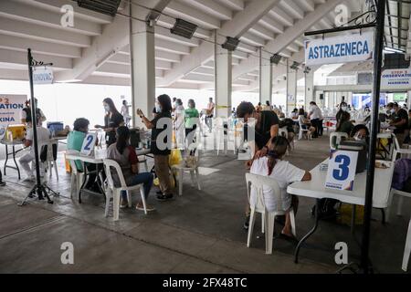
POLYGON ((110 208, 110 199, 112 199, 112 209, 113 209, 113 219, 114 221, 119 220, 119 213, 120 213, 120 196, 121 191, 127 192, 127 201, 129 207, 132 207, 132 191, 140 189, 140 194, 142 196, 142 205, 144 206, 144 214, 147 214, 146 204, 145 204, 145 196, 144 196, 144 189, 142 187, 142 183, 127 186, 125 183, 124 175, 122 174, 120 164, 115 162, 111 159, 103 160, 104 163, 104 171, 106 172, 107 176, 107 188, 106 188, 106 209, 105 209, 105 216, 109 215, 109 208, 110 208), (116 187, 112 180, 111 175, 111 168, 113 168, 120 179, 120 187, 116 187))

